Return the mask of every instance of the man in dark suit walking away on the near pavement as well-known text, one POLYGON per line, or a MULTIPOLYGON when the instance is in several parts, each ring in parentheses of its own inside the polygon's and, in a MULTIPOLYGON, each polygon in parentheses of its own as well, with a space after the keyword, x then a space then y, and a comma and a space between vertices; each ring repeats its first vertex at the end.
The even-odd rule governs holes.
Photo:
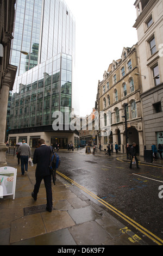
POLYGON ((39 188, 41 181, 43 179, 46 188, 46 198, 47 206, 46 210, 52 211, 52 183, 51 183, 51 172, 49 170, 49 163, 51 157, 51 148, 45 145, 44 139, 39 139, 39 148, 35 149, 33 156, 33 163, 37 163, 36 167, 36 184, 34 186, 34 191, 32 192, 32 197, 36 201, 37 193, 39 193, 39 188))

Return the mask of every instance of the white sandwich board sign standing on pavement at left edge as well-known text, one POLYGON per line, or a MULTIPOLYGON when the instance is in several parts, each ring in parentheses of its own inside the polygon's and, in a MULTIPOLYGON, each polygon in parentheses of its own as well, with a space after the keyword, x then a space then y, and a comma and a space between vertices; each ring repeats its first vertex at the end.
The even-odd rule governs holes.
POLYGON ((15 199, 17 169, 4 166, 0 168, 0 198, 13 195, 15 199))

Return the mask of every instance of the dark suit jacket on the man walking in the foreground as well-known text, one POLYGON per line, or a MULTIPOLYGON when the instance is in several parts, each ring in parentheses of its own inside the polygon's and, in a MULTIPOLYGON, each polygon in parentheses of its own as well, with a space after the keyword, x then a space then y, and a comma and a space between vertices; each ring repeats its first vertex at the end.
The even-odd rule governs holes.
POLYGON ((37 163, 36 177, 50 175, 49 164, 51 157, 51 148, 46 145, 41 145, 35 149, 33 163, 37 163))

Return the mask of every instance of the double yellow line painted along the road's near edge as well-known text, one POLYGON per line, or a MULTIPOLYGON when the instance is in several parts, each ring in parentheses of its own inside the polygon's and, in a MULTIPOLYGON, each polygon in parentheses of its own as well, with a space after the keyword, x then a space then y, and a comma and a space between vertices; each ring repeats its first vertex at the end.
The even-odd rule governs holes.
POLYGON ((118 211, 116 208, 114 208, 112 205, 108 204, 107 202, 105 202, 103 199, 97 197, 95 194, 93 194, 91 191, 87 190, 85 187, 79 185, 77 182, 71 180, 70 178, 68 178, 67 176, 65 176, 64 174, 58 172, 57 170, 57 174, 59 174, 60 176, 62 176, 64 179, 70 181, 72 184, 76 185, 77 187, 79 187, 81 190, 83 190, 84 192, 86 192, 87 194, 89 194, 91 197, 93 197, 94 199, 98 200, 98 202, 100 202, 101 204, 103 204, 106 208, 108 208, 109 210, 111 210, 112 212, 114 212, 116 215, 120 216, 124 221, 128 222, 130 225, 132 225, 134 228, 136 228, 137 230, 139 230, 142 234, 146 235, 149 239, 151 239, 153 242, 157 243, 157 245, 163 245, 163 240, 161 240, 158 236, 154 235, 153 233, 151 233, 151 231, 147 230, 146 228, 143 228, 139 223, 135 222, 134 220, 132 220, 131 218, 129 218, 127 215, 123 214, 123 212, 118 211))

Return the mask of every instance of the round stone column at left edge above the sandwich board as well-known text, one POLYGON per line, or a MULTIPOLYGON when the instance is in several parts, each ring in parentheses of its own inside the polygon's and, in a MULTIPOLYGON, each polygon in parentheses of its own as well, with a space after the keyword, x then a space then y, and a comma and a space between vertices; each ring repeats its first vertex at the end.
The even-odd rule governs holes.
POLYGON ((8 98, 9 98, 9 84, 2 85, 0 93, 0 167, 7 166, 5 153, 7 151, 7 146, 5 144, 5 133, 6 133, 6 120, 7 120, 7 108, 8 108, 8 98))

